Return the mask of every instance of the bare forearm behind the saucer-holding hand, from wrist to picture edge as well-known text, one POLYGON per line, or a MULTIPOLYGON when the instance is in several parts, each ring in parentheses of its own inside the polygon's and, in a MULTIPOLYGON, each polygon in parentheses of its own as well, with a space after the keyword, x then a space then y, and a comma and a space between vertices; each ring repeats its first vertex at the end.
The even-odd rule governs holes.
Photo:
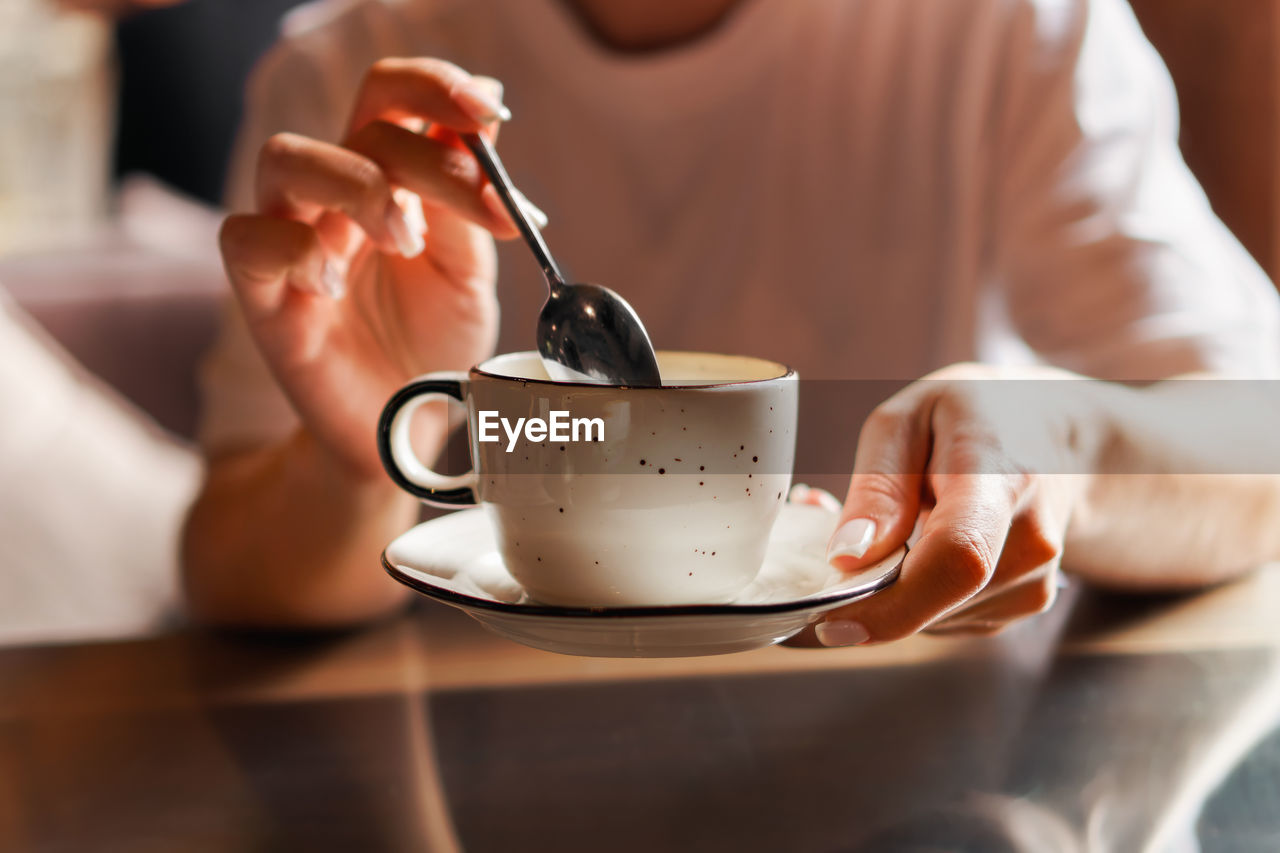
POLYGON ((1129 589, 1188 589, 1280 560, 1280 423, 1266 383, 1089 383, 1105 424, 1064 565, 1129 589))

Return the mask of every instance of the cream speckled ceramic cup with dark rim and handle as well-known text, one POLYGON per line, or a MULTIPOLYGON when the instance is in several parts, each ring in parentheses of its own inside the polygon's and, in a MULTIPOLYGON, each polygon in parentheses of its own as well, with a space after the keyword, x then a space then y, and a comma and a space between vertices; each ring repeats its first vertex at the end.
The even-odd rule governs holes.
POLYGON ((744 356, 658 361, 660 388, 553 382, 534 352, 422 377, 383 411, 383 464, 426 503, 484 506, 507 570, 536 601, 730 601, 759 571, 791 484, 799 382, 785 365, 744 356), (467 407, 474 467, 461 476, 430 470, 410 444, 413 411, 442 394, 467 407), (579 441, 507 432, 557 411, 584 421, 579 441), (599 434, 588 426, 595 420, 603 439, 585 441, 599 434))

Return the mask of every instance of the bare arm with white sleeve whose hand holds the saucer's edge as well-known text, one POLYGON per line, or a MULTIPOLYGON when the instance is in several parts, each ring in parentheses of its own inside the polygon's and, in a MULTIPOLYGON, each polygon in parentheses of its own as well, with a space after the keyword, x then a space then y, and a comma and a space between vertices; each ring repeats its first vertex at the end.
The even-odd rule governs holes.
POLYGON ((1066 370, 955 366, 864 424, 833 562, 920 535, 826 644, 998 630, 1050 607, 1064 566, 1157 590, 1280 558, 1268 383, 1083 380, 1280 373, 1275 288, 1183 163, 1158 56, 1119 0, 1018 4, 1006 42, 992 296, 1066 370))

